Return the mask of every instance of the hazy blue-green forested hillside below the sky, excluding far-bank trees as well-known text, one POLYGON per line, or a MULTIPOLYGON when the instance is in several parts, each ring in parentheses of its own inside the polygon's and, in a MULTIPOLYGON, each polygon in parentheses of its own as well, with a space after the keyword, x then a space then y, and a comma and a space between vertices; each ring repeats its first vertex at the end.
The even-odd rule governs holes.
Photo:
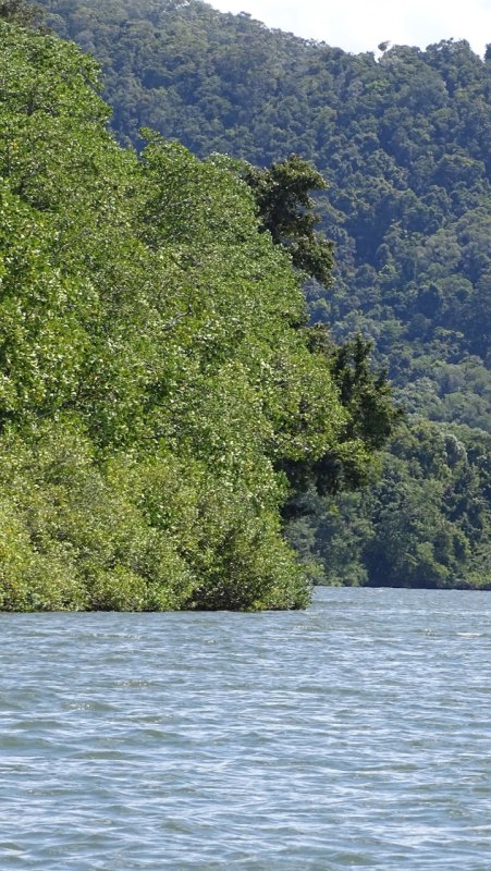
POLYGON ((103 63, 123 138, 311 160, 339 267, 315 316, 371 335, 410 410, 490 427, 491 63, 463 41, 377 61, 195 0, 42 5, 103 63))

